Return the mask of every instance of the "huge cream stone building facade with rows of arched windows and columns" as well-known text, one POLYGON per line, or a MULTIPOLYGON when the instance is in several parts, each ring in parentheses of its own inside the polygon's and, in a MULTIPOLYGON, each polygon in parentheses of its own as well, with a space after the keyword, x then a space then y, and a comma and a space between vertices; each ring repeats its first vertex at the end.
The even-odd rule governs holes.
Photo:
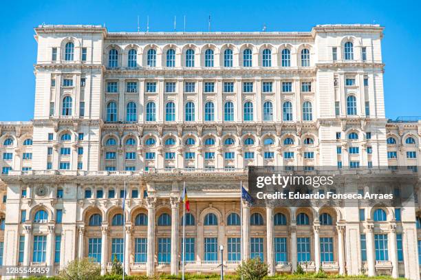
POLYGON ((260 257, 270 274, 419 279, 416 195, 402 209, 240 205, 248 166, 418 171, 421 122, 385 118, 382 32, 35 28, 34 119, 0 122, 2 264, 92 257, 105 273, 124 257, 129 274, 177 274, 185 182, 187 272, 215 272, 223 245, 228 272, 260 257))

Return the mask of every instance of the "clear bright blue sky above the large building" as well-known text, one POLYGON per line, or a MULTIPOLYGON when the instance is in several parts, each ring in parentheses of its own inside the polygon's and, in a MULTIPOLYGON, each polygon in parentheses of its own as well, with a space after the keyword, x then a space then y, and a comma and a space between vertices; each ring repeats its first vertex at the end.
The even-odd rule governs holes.
POLYGON ((111 32, 146 29, 207 31, 310 31, 316 24, 378 23, 385 67, 386 116, 421 116, 421 1, 19 1, 0 10, 0 121, 34 114, 36 41, 33 28, 47 24, 104 24, 111 32), (257 5, 256 5, 257 4, 257 5))

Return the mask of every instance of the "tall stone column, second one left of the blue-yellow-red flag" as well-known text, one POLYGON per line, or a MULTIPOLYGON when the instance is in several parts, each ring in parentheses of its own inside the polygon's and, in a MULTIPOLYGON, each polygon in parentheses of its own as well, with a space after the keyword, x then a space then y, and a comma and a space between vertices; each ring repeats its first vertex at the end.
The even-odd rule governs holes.
POLYGON ((147 276, 151 276, 155 272, 155 204, 156 204, 156 197, 147 197, 147 208, 148 208, 147 276))

